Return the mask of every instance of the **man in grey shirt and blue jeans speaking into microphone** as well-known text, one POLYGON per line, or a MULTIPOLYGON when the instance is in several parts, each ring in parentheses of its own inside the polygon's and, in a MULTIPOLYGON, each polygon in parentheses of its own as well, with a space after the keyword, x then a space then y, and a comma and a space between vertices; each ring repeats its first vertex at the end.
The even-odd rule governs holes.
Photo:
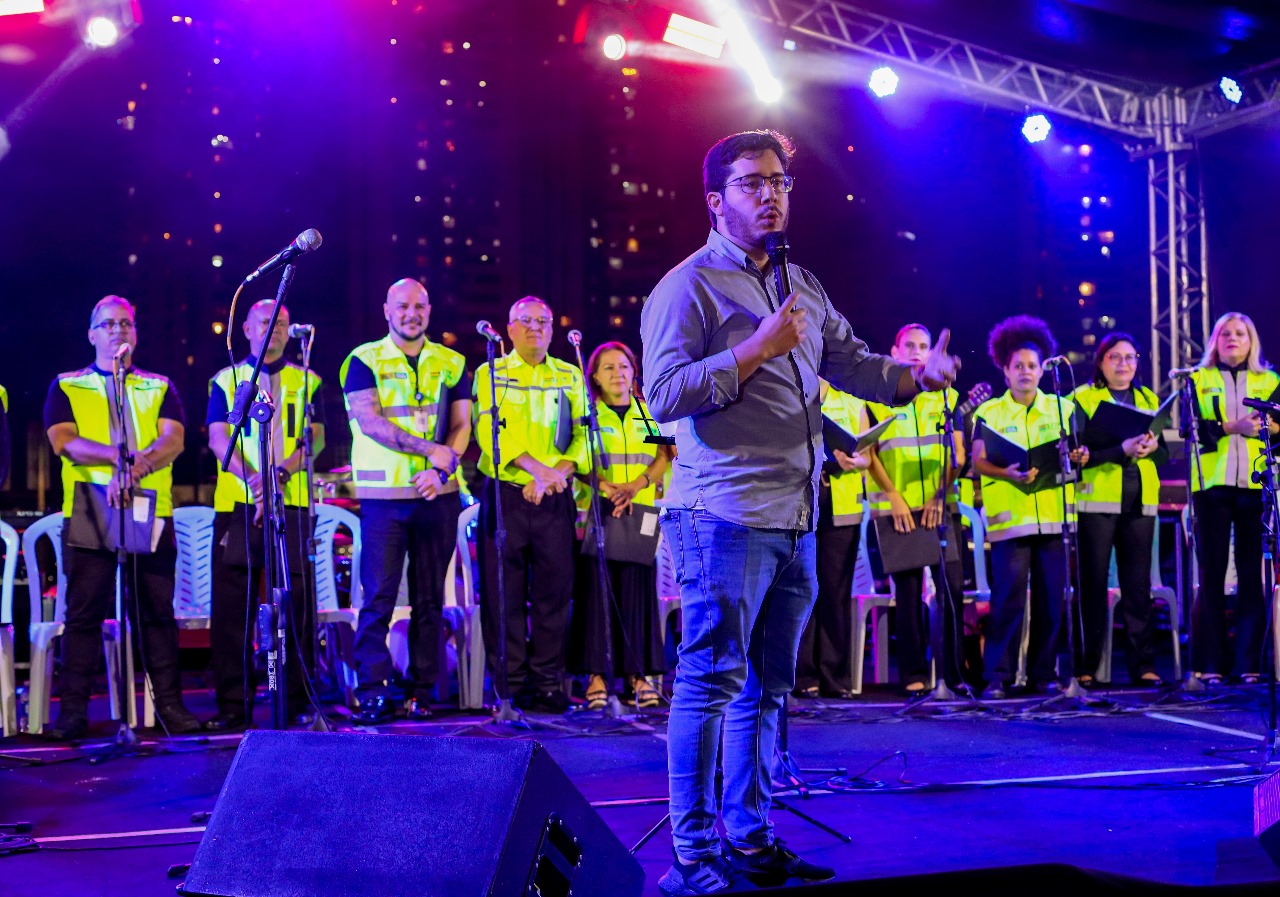
POLYGON ((790 266, 778 296, 765 238, 786 230, 794 145, 732 134, 703 164, 712 232, 654 288, 640 322, 645 393, 677 429, 662 526, 675 553, 684 640, 667 727, 676 861, 658 887, 699 894, 835 871, 782 846, 769 822, 778 711, 817 596, 819 376, 904 404, 957 362, 947 331, 919 365, 872 354, 817 278, 790 266), (723 729, 723 819, 716 830, 723 729))

